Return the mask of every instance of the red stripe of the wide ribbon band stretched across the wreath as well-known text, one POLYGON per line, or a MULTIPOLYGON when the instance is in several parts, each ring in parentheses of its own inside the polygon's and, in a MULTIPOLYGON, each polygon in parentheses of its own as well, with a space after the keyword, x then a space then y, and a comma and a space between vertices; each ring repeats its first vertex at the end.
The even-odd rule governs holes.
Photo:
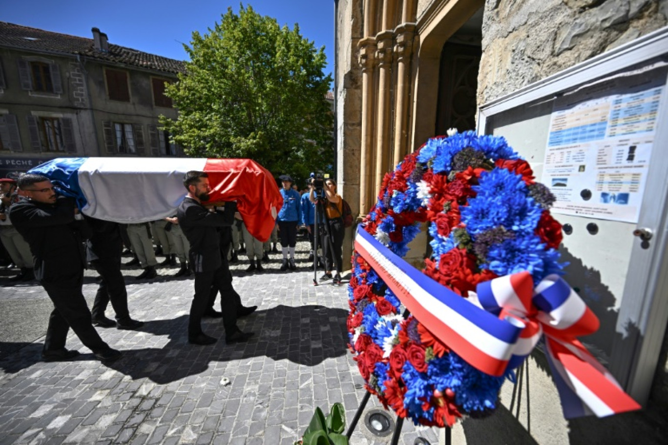
POLYGON ((474 368, 490 374, 492 376, 502 376, 508 366, 508 360, 498 360, 479 350, 474 344, 468 342, 466 338, 460 336, 458 332, 452 330, 450 326, 440 320, 435 314, 424 308, 409 292, 403 288, 389 273, 385 270, 373 256, 367 252, 357 240, 355 240, 355 250, 364 258, 371 268, 387 284, 392 292, 399 298, 399 301, 405 306, 411 314, 415 316, 436 338, 442 340, 449 348, 461 356, 474 368))

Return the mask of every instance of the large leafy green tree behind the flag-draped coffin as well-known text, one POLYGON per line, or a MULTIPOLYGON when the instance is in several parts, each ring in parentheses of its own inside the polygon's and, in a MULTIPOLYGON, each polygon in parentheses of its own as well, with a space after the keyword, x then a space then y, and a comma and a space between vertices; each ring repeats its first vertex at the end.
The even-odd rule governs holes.
POLYGON ((324 48, 253 8, 192 33, 186 73, 168 85, 179 115, 161 118, 186 154, 247 157, 301 181, 333 163, 324 48))

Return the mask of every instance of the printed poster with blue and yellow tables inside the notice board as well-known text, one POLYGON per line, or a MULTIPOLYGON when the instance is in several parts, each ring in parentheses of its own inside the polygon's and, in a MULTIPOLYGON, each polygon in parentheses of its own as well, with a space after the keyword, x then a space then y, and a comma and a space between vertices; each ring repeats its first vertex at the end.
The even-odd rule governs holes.
POLYGON ((554 101, 542 175, 552 212, 637 223, 666 73, 625 73, 554 101))

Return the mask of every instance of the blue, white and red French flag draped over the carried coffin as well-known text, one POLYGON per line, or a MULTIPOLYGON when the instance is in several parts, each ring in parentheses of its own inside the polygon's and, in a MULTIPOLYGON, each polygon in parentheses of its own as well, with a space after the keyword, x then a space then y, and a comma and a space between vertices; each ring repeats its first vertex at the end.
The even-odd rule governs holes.
POLYGON ((208 173, 210 202, 236 201, 248 232, 269 240, 283 199, 271 173, 251 159, 59 157, 29 173, 51 179, 85 215, 138 223, 176 213, 190 170, 208 173))

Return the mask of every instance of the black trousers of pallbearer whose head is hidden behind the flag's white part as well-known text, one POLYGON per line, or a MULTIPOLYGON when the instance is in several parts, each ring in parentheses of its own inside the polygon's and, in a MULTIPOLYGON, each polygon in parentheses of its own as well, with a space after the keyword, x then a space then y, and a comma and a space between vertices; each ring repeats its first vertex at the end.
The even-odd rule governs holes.
POLYGON ((103 318, 109 302, 116 312, 116 320, 130 318, 128 310, 128 291, 121 273, 121 258, 104 258, 92 262, 93 267, 102 277, 100 288, 93 302, 93 318, 103 318))

